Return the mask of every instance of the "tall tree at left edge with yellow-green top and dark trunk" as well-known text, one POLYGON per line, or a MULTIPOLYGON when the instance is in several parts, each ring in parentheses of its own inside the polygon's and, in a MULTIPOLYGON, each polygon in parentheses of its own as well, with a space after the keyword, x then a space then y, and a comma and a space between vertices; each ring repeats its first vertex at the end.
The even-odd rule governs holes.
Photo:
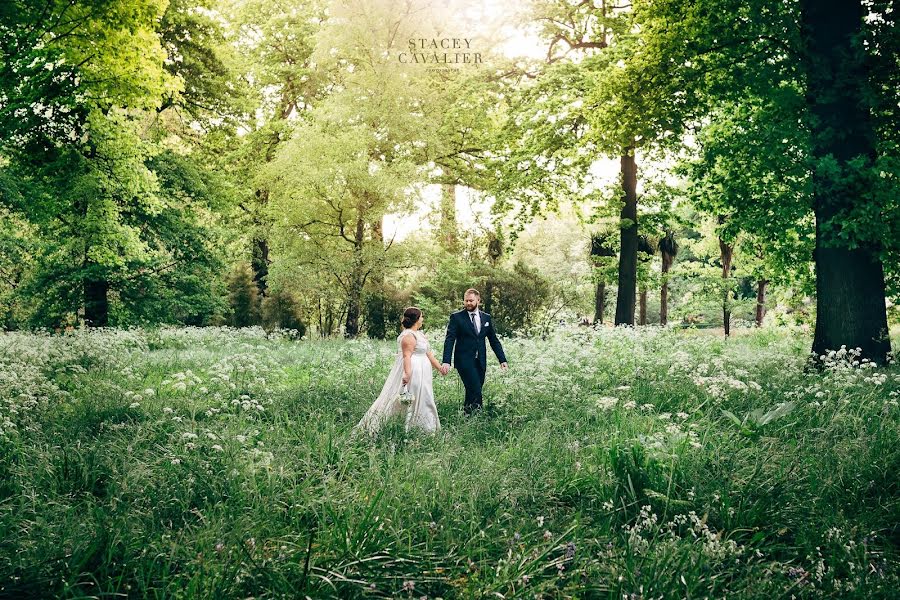
POLYGON ((180 89, 163 70, 156 25, 164 7, 51 0, 0 11, 0 152, 5 169, 21 174, 3 201, 38 226, 40 262, 67 273, 61 297, 74 300, 73 286, 81 288, 92 325, 108 323, 110 278, 142 251, 123 212, 153 210, 155 182, 133 135, 136 119, 121 107, 152 109, 180 89))

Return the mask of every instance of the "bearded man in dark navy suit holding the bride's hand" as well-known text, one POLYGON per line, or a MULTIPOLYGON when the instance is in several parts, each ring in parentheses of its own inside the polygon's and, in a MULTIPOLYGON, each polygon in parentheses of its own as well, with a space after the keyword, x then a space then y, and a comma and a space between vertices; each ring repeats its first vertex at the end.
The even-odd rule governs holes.
POLYGON ((466 414, 470 415, 476 408, 481 408, 481 387, 484 385, 484 375, 487 372, 485 338, 491 342, 491 349, 500 361, 500 368, 505 371, 508 365, 506 355, 503 354, 503 346, 500 345, 497 332, 491 325, 491 315, 478 310, 481 294, 478 290, 469 288, 463 296, 463 302, 465 309, 450 315, 450 322, 447 324, 441 374, 446 375, 450 372, 452 352, 453 364, 459 372, 460 379, 463 380, 463 385, 466 386, 466 403, 463 408, 466 414))

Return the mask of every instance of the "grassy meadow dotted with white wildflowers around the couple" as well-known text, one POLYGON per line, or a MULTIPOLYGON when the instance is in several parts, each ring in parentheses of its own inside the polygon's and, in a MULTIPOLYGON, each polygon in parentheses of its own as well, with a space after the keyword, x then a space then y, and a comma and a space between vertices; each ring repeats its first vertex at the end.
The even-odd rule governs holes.
MULTIPOLYGON (((429 337, 436 345, 434 332, 429 337)), ((889 598, 900 370, 763 329, 505 341, 351 434, 393 342, 0 336, 0 597, 889 598)))

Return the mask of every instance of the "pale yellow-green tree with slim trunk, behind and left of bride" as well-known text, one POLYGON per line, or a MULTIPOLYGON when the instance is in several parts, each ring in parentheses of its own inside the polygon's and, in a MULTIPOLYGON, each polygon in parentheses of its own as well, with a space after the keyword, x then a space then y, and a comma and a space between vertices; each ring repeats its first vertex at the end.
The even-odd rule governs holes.
POLYGON ((383 268, 392 247, 372 224, 387 212, 409 208, 407 188, 416 165, 402 147, 395 148, 396 137, 379 133, 384 122, 376 113, 367 115, 372 120, 348 118, 351 99, 329 99, 297 129, 272 161, 266 185, 274 193, 276 233, 286 236, 284 259, 314 263, 339 283, 348 298, 345 334, 355 337, 366 282, 383 268))

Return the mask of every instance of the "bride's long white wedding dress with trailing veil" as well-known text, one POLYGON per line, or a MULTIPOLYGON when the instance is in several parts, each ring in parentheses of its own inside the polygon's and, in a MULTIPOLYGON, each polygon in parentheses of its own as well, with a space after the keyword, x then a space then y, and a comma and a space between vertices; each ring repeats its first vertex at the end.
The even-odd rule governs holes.
POLYGON ((414 400, 406 405, 401 403, 397 397, 403 386, 403 350, 398 349, 394 366, 391 367, 391 372, 388 374, 387 381, 384 382, 381 393, 366 411, 356 426, 357 429, 375 433, 387 419, 404 413, 407 431, 415 427, 426 432, 435 432, 441 428, 437 406, 434 403, 431 361, 428 359, 431 346, 423 334, 412 329, 404 329, 397 337, 398 348, 407 335, 416 338, 416 347, 410 357, 412 369, 409 378, 409 393, 414 400))

